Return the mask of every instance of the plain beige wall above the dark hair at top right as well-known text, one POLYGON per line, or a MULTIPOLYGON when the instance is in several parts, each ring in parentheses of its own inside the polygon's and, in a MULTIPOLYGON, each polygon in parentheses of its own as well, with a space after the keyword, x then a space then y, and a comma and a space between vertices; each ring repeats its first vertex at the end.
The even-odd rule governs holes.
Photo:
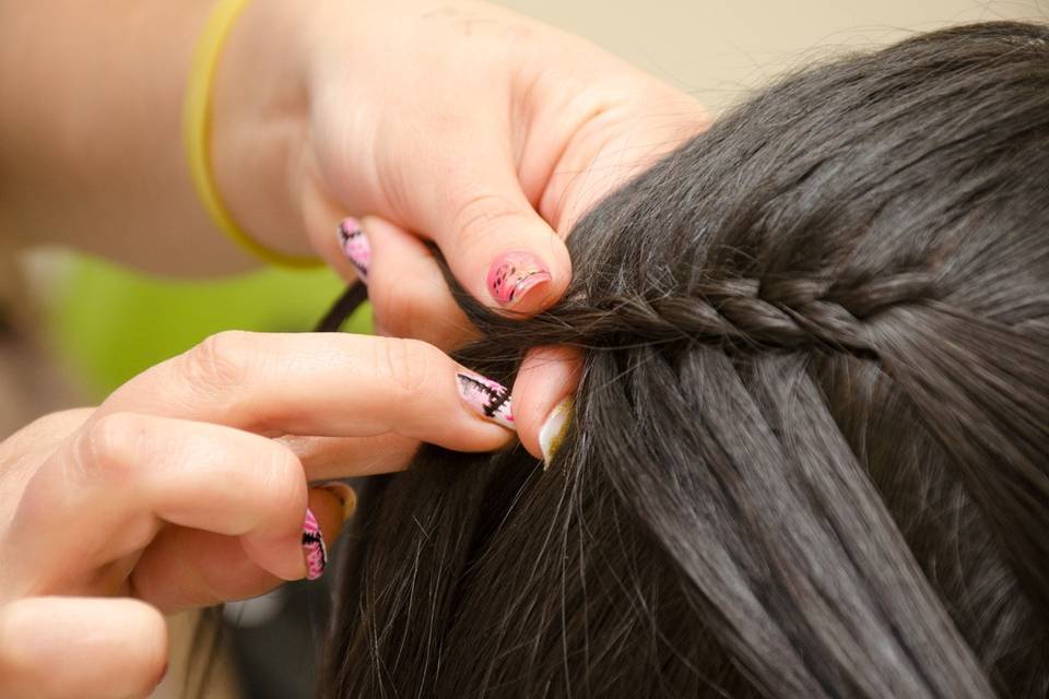
POLYGON ((721 108, 788 67, 947 24, 1049 21, 1049 0, 500 0, 721 108))

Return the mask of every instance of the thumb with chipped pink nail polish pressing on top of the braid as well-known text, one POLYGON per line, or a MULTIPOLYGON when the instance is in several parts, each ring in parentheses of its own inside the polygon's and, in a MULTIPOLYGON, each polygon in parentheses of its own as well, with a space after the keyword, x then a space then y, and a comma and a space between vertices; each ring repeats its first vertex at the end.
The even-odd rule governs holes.
MULTIPOLYGON (((474 144, 470 152, 499 151, 474 144)), ((428 233, 474 298, 530 316, 564 295, 568 249, 524 196, 510 157, 465 166, 437 189, 444 196, 428 233)))

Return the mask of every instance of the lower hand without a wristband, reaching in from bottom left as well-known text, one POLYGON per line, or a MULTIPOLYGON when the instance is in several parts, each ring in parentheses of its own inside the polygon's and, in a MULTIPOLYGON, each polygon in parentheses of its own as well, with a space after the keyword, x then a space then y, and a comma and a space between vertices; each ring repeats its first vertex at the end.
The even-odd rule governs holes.
POLYGON ((307 506, 331 540, 352 495, 309 482, 502 447, 499 388, 416 341, 223 333, 27 426, 0 443, 0 696, 150 692, 162 614, 306 574, 307 506))

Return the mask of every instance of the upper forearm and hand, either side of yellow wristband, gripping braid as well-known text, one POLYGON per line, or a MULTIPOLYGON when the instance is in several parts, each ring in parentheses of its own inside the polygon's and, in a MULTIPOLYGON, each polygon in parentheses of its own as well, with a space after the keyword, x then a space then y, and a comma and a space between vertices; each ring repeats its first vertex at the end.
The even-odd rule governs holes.
MULTIPOLYGON (((180 138, 215 2, 0 2, 0 238, 165 274, 244 269, 180 138)), ((470 0, 251 0, 211 92, 213 174, 234 220, 347 279, 355 260, 381 329, 446 351, 473 331, 422 240, 482 303, 534 313, 567 287, 573 222, 708 123, 587 42, 470 0), (357 222, 337 235, 345 216, 366 235, 357 222)), ((539 425, 575 386, 561 352, 530 356, 541 370, 515 386, 537 455, 539 425)))

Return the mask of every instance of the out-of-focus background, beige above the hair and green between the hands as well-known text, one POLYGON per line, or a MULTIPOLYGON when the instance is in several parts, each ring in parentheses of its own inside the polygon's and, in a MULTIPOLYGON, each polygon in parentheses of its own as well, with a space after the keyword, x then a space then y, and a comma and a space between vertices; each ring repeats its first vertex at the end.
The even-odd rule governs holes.
MULTIPOLYGON (((698 96, 716 112, 783 71, 844 51, 963 22, 1049 21, 1047 0, 504 4, 590 38, 698 96)), ((219 330, 306 330, 341 286, 328 272, 276 270, 207 283, 165 281, 69 251, 16 257, 3 245, 0 240, 0 437, 44 412, 97 402, 127 378, 219 330)), ((365 317, 353 324, 357 330, 367 327, 365 317)), ((310 696, 309 644, 287 637, 287 627, 276 640, 264 632, 268 618, 287 615, 282 600, 238 612, 248 629, 240 635, 238 659, 271 673, 248 685, 245 696, 310 696), (290 648, 295 652, 288 653, 290 648), (278 656, 284 660, 269 660, 278 656)), ((293 625, 299 629, 300 616, 293 625)), ((308 636, 306 626, 303 633, 308 636)), ((314 618, 313 626, 322 630, 325 623, 314 618)))

